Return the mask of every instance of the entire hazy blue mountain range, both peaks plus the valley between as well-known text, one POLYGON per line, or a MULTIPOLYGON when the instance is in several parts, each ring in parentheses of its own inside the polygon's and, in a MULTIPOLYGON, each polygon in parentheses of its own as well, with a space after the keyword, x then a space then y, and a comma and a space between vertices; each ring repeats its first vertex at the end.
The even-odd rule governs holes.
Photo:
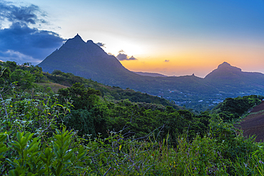
POLYGON ((223 98, 238 95, 264 95, 264 75, 243 72, 240 68, 222 63, 205 78, 191 76, 162 77, 156 74, 141 76, 124 68, 114 56, 108 56, 93 41, 83 41, 78 34, 68 39, 44 61, 43 71, 60 70, 99 83, 158 95, 178 104, 206 102, 211 105, 223 98), (157 76, 157 77, 153 77, 157 76))

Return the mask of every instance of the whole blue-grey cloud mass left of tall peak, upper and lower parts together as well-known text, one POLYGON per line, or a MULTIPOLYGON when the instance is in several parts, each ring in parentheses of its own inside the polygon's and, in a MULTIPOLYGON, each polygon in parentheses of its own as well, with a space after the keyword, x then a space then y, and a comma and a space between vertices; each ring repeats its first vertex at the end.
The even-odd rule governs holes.
POLYGON ((39 18, 45 14, 38 6, 15 6, 1 1, 0 9, 0 24, 1 21, 11 23, 8 28, 0 29, 0 58, 3 61, 37 64, 65 41, 53 31, 29 27, 29 24, 48 24, 39 18))

